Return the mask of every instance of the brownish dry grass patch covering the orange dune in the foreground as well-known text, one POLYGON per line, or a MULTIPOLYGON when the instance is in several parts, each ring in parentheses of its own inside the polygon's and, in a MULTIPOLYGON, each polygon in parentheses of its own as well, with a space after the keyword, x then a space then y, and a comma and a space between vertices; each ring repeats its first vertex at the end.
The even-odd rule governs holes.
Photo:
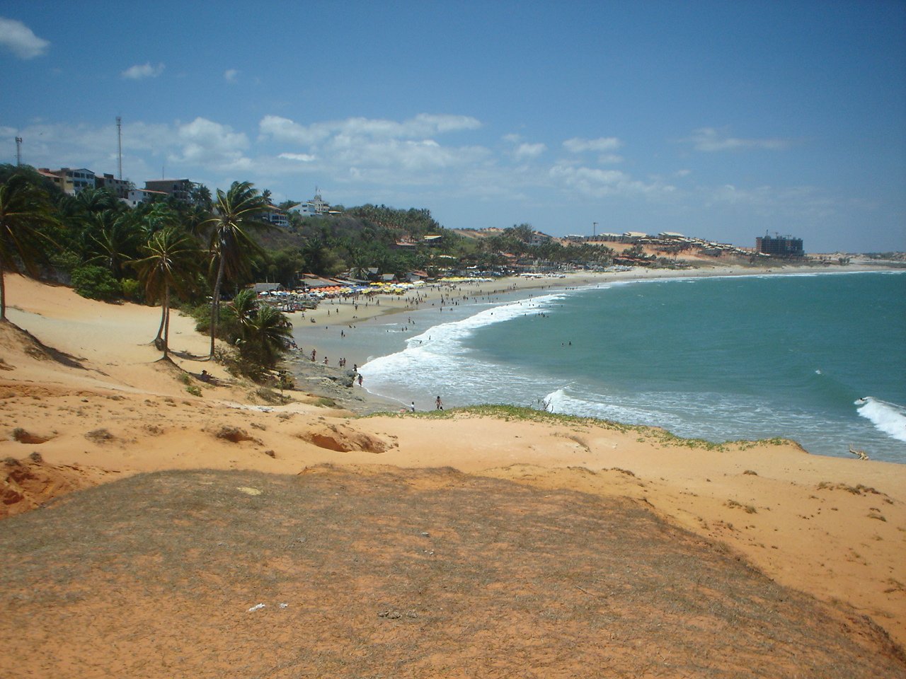
POLYGON ((8 679, 906 676, 867 619, 624 498, 452 470, 163 472, 3 529, 8 679))

